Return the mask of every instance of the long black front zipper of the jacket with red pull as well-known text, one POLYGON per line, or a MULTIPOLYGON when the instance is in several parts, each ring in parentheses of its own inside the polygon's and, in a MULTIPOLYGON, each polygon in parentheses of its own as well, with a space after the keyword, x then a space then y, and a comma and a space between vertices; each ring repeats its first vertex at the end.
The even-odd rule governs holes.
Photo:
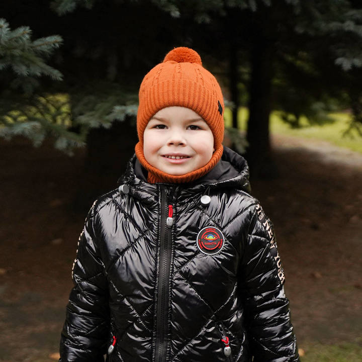
POLYGON ((155 361, 165 362, 167 354, 167 320, 168 320, 168 293, 171 266, 171 227, 173 224, 173 208, 168 205, 166 214, 167 196, 163 186, 161 188, 161 240, 157 293, 157 322, 155 361), (166 218, 166 215, 168 217, 166 218))

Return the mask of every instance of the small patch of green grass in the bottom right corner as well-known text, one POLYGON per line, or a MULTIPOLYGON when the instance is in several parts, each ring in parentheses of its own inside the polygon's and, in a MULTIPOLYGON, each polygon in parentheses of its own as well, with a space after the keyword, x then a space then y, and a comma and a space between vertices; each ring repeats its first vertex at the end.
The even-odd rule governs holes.
POLYGON ((301 362, 360 362, 362 345, 358 343, 314 344, 304 348, 301 362))

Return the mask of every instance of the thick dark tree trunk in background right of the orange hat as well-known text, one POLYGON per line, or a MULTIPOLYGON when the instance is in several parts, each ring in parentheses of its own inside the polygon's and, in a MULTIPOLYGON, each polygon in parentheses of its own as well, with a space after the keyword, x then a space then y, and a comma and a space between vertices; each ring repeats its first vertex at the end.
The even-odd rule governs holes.
POLYGON ((249 119, 246 159, 255 177, 277 174, 270 154, 269 115, 271 111, 273 60, 272 48, 266 39, 256 37, 251 50, 249 83, 249 119))

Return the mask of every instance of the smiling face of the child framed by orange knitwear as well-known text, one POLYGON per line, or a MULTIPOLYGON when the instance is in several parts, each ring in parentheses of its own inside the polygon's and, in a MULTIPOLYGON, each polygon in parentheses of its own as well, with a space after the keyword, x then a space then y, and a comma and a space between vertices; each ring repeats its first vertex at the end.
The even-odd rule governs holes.
POLYGON ((147 162, 173 175, 205 166, 212 157, 213 147, 214 136, 207 123, 185 107, 161 109, 150 119, 143 134, 147 162))

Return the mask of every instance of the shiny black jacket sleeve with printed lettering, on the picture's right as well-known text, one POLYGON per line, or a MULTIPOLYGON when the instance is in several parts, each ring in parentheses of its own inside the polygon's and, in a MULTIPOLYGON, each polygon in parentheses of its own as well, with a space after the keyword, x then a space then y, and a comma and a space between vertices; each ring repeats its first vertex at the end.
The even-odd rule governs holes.
POLYGON ((297 362, 298 347, 273 225, 260 205, 250 209, 245 240, 239 286, 253 362, 297 362))

